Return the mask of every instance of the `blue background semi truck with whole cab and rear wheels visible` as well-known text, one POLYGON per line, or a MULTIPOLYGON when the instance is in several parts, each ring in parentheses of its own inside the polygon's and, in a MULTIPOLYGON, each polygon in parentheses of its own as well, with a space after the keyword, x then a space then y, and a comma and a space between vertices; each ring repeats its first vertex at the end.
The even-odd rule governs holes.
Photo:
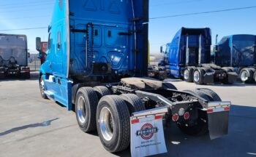
POLYGON ((175 78, 194 81, 195 84, 214 84, 217 81, 233 84, 236 81, 237 74, 232 68, 211 63, 210 28, 181 28, 173 41, 166 44, 164 54, 159 66, 165 66, 175 78))

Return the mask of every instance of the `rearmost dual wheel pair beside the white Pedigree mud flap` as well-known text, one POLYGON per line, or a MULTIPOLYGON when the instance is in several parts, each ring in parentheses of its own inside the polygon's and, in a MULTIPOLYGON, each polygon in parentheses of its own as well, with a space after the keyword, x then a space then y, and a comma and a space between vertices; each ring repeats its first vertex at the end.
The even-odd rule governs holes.
POLYGON ((114 153, 127 149, 130 142, 129 117, 140 110, 145 110, 145 107, 135 94, 108 95, 99 100, 97 131, 106 150, 114 153))

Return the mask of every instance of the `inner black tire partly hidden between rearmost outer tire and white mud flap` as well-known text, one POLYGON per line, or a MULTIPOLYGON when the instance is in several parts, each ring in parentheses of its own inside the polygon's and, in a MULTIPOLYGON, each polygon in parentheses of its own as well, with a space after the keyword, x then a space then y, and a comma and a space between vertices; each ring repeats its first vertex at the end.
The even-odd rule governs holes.
POLYGON ((146 110, 143 101, 137 95, 121 94, 120 97, 126 102, 130 116, 132 116, 132 113, 134 112, 146 110))

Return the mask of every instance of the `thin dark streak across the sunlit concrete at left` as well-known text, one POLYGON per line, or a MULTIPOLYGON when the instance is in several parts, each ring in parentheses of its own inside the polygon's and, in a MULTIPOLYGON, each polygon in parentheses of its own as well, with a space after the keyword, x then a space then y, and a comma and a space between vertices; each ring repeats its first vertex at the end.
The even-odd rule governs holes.
POLYGON ((45 126, 50 126, 50 124, 53 122, 53 121, 56 121, 57 119, 59 118, 53 118, 53 119, 50 119, 48 121, 43 121, 42 123, 37 123, 37 124, 29 124, 29 125, 25 125, 25 126, 19 126, 19 127, 15 127, 15 128, 12 128, 12 129, 9 129, 5 132, 0 132, 0 137, 1 136, 4 136, 6 134, 10 134, 12 132, 18 132, 20 130, 23 130, 23 129, 28 129, 28 128, 34 128, 34 127, 45 127, 45 126))

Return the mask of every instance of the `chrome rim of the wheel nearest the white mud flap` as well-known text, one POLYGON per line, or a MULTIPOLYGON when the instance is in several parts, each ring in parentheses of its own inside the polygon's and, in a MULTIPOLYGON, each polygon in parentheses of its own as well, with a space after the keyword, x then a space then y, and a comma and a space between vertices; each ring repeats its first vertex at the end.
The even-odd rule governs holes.
POLYGON ((110 141, 113 137, 113 116, 106 107, 102 108, 99 114, 99 127, 105 140, 110 141))

